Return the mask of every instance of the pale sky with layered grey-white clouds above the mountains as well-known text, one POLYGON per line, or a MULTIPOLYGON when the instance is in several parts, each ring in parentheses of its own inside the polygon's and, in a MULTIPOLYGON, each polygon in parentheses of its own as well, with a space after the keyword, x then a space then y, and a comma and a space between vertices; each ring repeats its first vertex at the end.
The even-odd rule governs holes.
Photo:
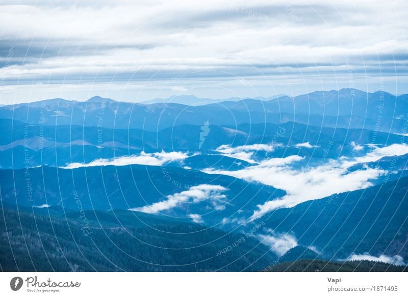
POLYGON ((0 104, 408 93, 408 3, 0 0, 0 104))

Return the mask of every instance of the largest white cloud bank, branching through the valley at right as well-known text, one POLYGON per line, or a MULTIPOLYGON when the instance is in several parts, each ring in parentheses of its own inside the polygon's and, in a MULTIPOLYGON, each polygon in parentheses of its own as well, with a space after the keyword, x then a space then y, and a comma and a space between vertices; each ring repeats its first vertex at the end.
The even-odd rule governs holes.
POLYGON ((393 144, 382 148, 372 147, 373 150, 363 157, 329 160, 326 164, 314 168, 293 166, 303 158, 292 155, 263 160, 260 164, 237 171, 206 169, 203 172, 261 182, 286 191, 287 194, 282 198, 257 205, 258 209, 254 210, 250 217, 250 220, 255 220, 277 208, 293 207, 305 201, 372 186, 373 183, 370 180, 386 174, 386 170, 363 167, 361 170, 350 172, 348 169, 355 164, 376 161, 384 156, 408 153, 408 145, 405 144, 393 144))

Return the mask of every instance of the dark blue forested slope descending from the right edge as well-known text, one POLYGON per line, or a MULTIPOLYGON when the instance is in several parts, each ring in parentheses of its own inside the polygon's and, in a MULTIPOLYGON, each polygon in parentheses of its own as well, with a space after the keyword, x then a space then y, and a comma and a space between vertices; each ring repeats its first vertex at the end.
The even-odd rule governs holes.
POLYGON ((408 259, 408 178, 277 209, 265 227, 291 232, 327 259, 368 253, 408 259))

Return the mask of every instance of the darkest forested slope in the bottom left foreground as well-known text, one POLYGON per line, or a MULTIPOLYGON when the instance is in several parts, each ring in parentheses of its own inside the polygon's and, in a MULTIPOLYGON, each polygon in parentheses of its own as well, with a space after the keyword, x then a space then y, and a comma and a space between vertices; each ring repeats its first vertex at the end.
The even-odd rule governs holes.
POLYGON ((44 210, 0 213, 2 271, 259 271, 274 258, 252 238, 219 253, 242 235, 197 224, 141 227, 89 219, 84 233, 83 220, 44 210))

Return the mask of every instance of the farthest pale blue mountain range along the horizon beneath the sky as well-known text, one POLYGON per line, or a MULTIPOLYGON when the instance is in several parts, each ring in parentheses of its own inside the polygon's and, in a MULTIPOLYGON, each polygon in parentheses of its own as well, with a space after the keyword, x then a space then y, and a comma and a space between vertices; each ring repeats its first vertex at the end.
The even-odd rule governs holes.
MULTIPOLYGON (((137 128, 157 131, 182 124, 235 126, 242 123, 297 122, 315 126, 398 132, 408 117, 408 95, 366 93, 355 89, 318 91, 271 100, 243 99, 206 105, 129 103, 92 97, 61 98, 0 107, 0 118, 29 124, 137 128), (118 116, 120 115, 120 116, 118 116)), ((406 127, 405 127, 406 128, 406 127)))

